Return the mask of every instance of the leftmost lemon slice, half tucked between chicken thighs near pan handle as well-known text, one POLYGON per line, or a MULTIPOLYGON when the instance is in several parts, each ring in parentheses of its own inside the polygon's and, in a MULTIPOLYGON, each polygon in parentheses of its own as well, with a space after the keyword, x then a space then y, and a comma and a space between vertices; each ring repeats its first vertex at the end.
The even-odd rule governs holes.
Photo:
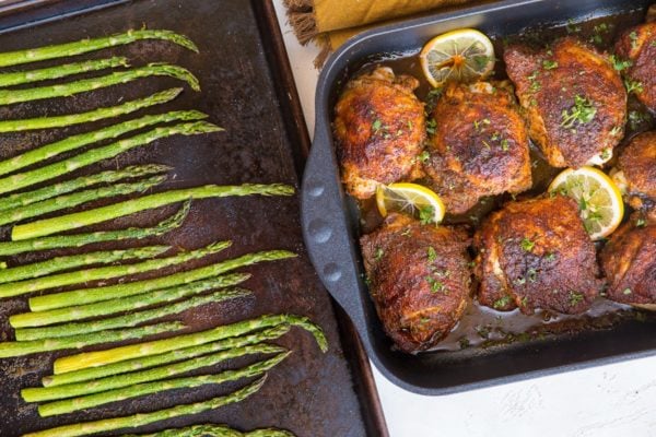
POLYGON ((378 185, 376 205, 380 215, 389 211, 412 215, 422 223, 438 224, 444 218, 444 203, 434 191, 417 184, 378 185))

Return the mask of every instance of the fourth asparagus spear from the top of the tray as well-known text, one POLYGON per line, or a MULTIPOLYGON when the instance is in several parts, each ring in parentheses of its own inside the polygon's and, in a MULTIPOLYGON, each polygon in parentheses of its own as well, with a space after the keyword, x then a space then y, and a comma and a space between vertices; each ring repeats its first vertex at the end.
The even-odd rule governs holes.
POLYGON ((118 106, 110 106, 90 110, 87 113, 68 114, 63 116, 26 118, 19 120, 0 120, 0 132, 17 132, 34 129, 62 128, 66 126, 92 122, 105 118, 113 118, 131 114, 149 106, 154 106, 173 101, 183 88, 171 88, 144 98, 126 102, 118 106))

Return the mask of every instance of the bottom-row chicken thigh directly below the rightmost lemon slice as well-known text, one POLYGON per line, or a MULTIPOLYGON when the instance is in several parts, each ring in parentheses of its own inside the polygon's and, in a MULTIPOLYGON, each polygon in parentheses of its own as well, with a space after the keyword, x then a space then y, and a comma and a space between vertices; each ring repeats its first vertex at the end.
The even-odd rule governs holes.
POLYGON ((570 198, 509 202, 477 232, 478 300, 497 310, 587 310, 599 294, 595 245, 570 198))

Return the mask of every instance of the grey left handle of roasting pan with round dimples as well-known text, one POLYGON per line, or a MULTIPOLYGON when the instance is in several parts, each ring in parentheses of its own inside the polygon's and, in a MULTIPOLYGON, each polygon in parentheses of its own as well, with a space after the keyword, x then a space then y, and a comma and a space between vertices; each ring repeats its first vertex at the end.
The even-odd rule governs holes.
POLYGON ((303 174, 303 238, 324 285, 364 336, 367 330, 356 270, 359 257, 351 244, 349 233, 352 231, 347 213, 329 133, 317 129, 303 174))

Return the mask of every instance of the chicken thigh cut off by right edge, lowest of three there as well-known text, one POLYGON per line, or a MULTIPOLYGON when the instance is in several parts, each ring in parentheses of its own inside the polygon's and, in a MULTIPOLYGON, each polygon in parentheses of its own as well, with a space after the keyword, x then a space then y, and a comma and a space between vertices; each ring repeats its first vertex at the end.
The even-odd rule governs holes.
POLYGON ((600 258, 608 298, 656 309, 656 217, 633 214, 610 236, 600 258))

